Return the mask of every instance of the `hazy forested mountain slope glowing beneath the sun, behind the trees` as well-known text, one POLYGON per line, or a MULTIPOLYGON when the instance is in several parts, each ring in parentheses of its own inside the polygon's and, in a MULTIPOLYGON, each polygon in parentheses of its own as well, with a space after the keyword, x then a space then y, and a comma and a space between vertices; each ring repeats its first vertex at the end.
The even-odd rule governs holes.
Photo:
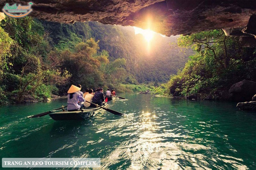
POLYGON ((150 81, 166 82, 171 74, 184 67, 191 49, 175 45, 179 36, 165 37, 155 33, 148 42, 142 34, 135 34, 132 26, 104 25, 99 22, 76 22, 62 24, 40 20, 51 38, 52 46, 60 49, 72 48, 79 41, 94 38, 99 41, 100 50, 109 52, 109 60, 124 58, 125 70, 139 83, 150 81))

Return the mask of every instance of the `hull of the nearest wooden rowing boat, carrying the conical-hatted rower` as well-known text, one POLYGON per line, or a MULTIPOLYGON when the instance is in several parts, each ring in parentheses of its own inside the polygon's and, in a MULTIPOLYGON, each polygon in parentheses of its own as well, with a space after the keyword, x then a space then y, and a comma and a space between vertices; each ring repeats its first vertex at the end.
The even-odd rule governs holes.
MULTIPOLYGON (((106 107, 107 103, 103 106, 106 107)), ((55 121, 61 120, 85 120, 95 116, 102 110, 100 107, 90 107, 86 109, 79 109, 76 111, 61 111, 49 114, 55 121)))

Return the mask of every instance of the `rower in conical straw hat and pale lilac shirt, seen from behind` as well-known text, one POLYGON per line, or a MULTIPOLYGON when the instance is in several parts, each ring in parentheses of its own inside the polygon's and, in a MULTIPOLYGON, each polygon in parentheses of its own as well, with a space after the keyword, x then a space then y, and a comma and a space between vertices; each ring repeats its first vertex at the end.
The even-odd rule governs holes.
POLYGON ((71 85, 68 90, 68 106, 67 110, 77 110, 80 109, 81 105, 84 104, 84 98, 78 93, 81 88, 75 85, 71 85), (78 104, 79 103, 79 104, 78 104))

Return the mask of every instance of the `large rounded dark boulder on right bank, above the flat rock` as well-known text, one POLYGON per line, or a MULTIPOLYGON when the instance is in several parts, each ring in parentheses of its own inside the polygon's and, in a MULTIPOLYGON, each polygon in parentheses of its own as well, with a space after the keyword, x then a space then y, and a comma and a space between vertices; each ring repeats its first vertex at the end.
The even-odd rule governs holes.
POLYGON ((228 91, 228 99, 233 101, 251 101, 256 93, 256 82, 243 80, 232 85, 228 91))

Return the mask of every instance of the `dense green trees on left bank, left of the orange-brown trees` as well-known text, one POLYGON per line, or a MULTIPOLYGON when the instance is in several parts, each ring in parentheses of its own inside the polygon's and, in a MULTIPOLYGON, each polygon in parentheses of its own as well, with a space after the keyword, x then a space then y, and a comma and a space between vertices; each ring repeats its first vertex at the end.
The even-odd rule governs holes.
POLYGON ((57 84, 65 84, 70 74, 60 69, 60 58, 52 57, 49 37, 42 24, 31 17, 20 19, 6 17, 1 22, 0 67, 1 103, 21 101, 25 94, 36 98, 48 97, 57 84), (2 29, 3 28, 3 29, 2 29), (50 88, 51 86, 51 88, 50 88), (44 94, 39 93, 43 90, 44 94))

